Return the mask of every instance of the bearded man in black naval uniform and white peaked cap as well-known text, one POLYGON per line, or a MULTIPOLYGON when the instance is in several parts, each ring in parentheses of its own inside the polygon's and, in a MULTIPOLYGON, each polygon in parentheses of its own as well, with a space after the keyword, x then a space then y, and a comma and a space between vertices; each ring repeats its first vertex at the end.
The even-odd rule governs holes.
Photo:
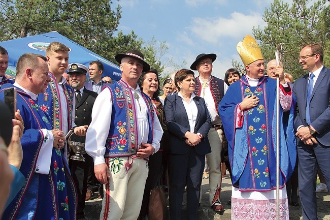
MULTIPOLYGON (((82 64, 72 64, 69 67, 69 82, 71 87, 73 87, 76 95, 76 107, 75 107, 75 123, 77 126, 89 125, 92 117, 92 108, 94 101, 97 97, 97 93, 87 90, 84 87, 84 82, 86 81, 86 73, 88 71, 87 67, 82 64)), ((71 141, 85 143, 85 136, 74 135, 71 141)), ((70 151, 70 156, 74 152, 70 151)), ((84 154, 85 162, 69 160, 69 167, 71 170, 74 183, 77 187, 78 193, 78 206, 77 206, 77 218, 84 217, 85 208, 85 198, 87 192, 87 179, 88 174, 94 167, 93 159, 87 153, 84 154)))

